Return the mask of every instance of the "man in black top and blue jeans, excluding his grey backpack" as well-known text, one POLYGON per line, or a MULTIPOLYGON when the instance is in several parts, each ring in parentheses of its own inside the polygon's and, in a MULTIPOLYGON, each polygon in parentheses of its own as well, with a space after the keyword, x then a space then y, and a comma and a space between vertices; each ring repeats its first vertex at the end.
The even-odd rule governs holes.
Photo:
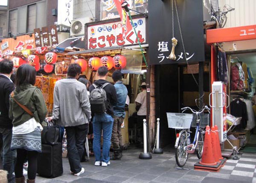
MULTIPOLYGON (((92 92, 93 89, 99 86, 103 86, 108 75, 108 69, 105 66, 99 67, 97 71, 97 76, 99 80, 94 81, 90 86, 89 91, 92 92)), ((93 116, 93 152, 95 155, 95 166, 108 166, 110 165, 109 150, 111 146, 111 134, 113 127, 113 106, 116 105, 116 89, 109 83, 103 88, 107 96, 107 111, 102 114, 94 114, 93 116), (103 131, 103 147, 101 155, 101 135, 103 131)))

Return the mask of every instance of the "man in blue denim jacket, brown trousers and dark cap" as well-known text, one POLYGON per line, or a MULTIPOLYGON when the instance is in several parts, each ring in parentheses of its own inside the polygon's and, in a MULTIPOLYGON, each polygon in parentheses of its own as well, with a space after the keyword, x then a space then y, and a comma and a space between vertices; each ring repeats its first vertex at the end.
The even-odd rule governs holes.
POLYGON ((114 123, 112 129, 111 142, 113 144, 113 160, 120 160, 122 157, 122 134, 121 134, 121 124, 125 119, 125 101, 127 98, 127 88, 122 83, 122 73, 120 70, 116 70, 112 74, 112 79, 114 81, 114 87, 116 89, 116 105, 114 105, 114 123))

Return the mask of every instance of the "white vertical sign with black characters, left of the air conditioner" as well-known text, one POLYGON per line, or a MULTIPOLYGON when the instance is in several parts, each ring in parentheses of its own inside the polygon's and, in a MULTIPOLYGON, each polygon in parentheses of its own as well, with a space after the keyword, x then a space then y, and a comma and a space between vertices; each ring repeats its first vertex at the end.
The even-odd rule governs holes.
POLYGON ((73 0, 58 0, 58 25, 70 26, 73 20, 73 0))

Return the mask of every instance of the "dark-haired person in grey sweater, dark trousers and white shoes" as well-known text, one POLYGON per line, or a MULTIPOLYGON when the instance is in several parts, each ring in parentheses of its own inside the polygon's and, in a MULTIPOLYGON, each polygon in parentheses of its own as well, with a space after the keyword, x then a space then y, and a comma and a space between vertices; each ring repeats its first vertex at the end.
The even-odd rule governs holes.
POLYGON ((89 96, 86 86, 78 81, 81 66, 70 64, 67 79, 58 80, 53 92, 53 113, 48 120, 56 120, 64 126, 67 134, 67 156, 70 173, 79 176, 84 173, 81 160, 84 154, 84 139, 91 119, 89 96))

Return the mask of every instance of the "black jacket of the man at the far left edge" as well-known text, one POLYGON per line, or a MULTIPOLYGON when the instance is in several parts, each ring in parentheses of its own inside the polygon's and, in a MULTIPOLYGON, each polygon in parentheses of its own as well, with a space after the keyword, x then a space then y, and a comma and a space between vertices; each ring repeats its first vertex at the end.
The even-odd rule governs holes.
POLYGON ((7 76, 0 75, 0 128, 12 128, 12 120, 9 119, 9 96, 14 89, 14 83, 7 76))

